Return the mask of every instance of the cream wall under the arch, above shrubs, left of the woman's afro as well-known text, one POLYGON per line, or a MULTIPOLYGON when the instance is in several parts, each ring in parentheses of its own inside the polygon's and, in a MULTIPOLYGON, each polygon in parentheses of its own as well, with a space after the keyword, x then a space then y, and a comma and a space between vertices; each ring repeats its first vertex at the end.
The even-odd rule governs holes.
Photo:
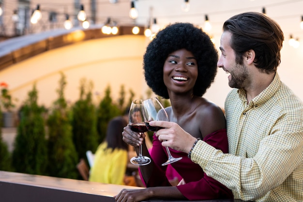
POLYGON ((144 36, 123 35, 94 39, 47 51, 0 72, 0 81, 9 85, 17 105, 27 98, 36 83, 39 103, 50 106, 58 97, 60 72, 67 79, 65 96, 69 102, 79 98, 81 78, 94 83, 94 100, 103 98, 108 85, 117 99, 121 85, 127 95, 131 89, 139 97, 146 91, 142 70, 142 53, 146 47, 144 36))

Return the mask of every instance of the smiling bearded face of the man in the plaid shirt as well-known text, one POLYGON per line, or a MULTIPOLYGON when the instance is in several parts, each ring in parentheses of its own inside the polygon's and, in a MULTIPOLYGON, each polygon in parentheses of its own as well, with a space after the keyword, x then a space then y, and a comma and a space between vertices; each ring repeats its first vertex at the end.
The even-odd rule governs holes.
POLYGON ((228 75, 228 85, 231 88, 245 88, 248 78, 247 67, 236 62, 235 51, 230 47, 231 33, 224 31, 221 36, 221 55, 217 66, 228 75))

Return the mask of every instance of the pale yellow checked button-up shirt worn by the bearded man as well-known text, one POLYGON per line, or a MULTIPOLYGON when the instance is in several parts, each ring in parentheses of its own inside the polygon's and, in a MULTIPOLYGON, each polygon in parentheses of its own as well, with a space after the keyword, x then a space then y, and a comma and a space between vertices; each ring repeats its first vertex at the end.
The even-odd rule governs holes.
POLYGON ((235 199, 303 202, 303 103, 276 73, 249 104, 243 89, 225 103, 229 154, 200 140, 191 159, 235 199))

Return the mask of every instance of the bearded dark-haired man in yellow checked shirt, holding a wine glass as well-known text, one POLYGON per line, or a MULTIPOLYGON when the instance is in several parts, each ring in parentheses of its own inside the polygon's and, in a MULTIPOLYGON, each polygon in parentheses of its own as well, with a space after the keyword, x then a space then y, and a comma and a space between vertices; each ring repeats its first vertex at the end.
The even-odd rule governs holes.
POLYGON ((217 66, 234 88, 225 102, 229 154, 170 122, 156 135, 162 146, 188 153, 236 199, 303 202, 303 103, 278 74, 284 40, 268 16, 249 12, 228 19, 217 66))

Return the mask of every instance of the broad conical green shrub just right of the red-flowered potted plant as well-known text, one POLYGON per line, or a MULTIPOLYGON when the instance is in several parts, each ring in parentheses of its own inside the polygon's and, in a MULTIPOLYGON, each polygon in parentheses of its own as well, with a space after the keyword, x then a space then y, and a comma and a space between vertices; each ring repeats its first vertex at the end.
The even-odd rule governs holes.
POLYGON ((13 166, 17 172, 46 175, 47 145, 45 140, 45 108, 37 104, 36 86, 28 93, 28 99, 20 109, 13 166))

